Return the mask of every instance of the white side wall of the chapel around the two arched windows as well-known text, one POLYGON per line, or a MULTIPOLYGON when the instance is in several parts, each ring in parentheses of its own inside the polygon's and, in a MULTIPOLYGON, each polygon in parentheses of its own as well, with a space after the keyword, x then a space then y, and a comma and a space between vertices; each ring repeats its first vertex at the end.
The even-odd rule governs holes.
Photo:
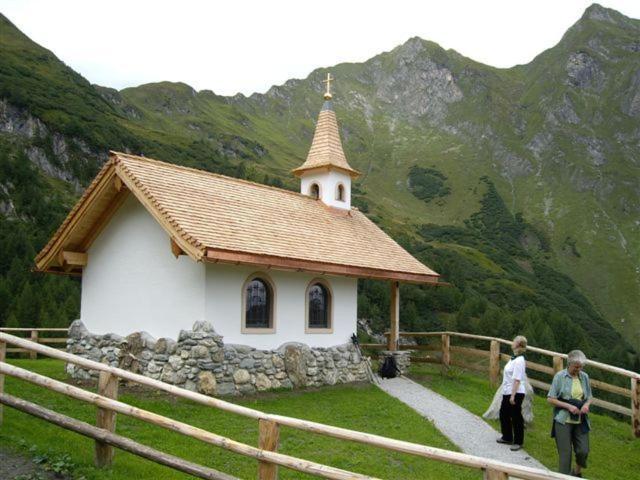
POLYGON ((225 343, 251 345, 256 348, 277 348, 286 342, 301 342, 312 347, 330 347, 350 340, 356 332, 358 313, 357 279, 322 276, 331 287, 332 333, 305 333, 306 290, 309 282, 320 276, 269 270, 267 275, 275 285, 274 333, 242 333, 243 286, 247 277, 261 269, 208 264, 206 265, 205 317, 225 343))

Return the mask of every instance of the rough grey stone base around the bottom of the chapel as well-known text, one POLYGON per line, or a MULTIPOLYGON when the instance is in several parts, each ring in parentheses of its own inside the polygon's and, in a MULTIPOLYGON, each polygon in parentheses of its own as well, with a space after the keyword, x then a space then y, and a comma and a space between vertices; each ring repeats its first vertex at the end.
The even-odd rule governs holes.
MULTIPOLYGON (((367 381, 366 363, 351 343, 330 348, 285 343, 276 350, 257 350, 225 345, 208 322, 182 330, 176 341, 146 332, 94 335, 76 320, 67 351, 206 395, 367 381)), ((98 374, 71 364, 67 373, 77 379, 98 374)))

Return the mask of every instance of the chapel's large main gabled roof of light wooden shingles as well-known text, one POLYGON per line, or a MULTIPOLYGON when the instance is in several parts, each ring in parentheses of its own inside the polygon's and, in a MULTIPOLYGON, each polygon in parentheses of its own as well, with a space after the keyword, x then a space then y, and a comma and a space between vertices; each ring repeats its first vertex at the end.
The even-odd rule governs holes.
POLYGON ((197 261, 438 281, 437 273, 357 209, 334 209, 288 190, 117 152, 38 254, 37 269, 77 271, 64 270, 61 252, 86 252, 129 194, 179 251, 197 261))

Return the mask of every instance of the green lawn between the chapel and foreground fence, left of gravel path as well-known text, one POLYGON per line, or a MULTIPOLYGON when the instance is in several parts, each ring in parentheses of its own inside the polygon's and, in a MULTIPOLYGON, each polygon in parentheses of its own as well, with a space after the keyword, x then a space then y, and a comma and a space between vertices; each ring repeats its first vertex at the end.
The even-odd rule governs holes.
MULTIPOLYGON (((14 360, 11 363, 52 378, 65 380, 63 364, 54 360, 14 360)), ((6 378, 5 391, 56 412, 94 424, 96 409, 26 382, 6 378)), ((257 422, 164 394, 121 387, 120 400, 180 420, 210 432, 257 446, 257 422)), ((456 448, 417 413, 372 385, 326 387, 260 395, 233 400, 259 410, 309 419, 385 435, 440 448, 456 448)), ((182 479, 190 478, 125 452, 117 451, 112 468, 93 468, 93 441, 67 432, 43 420, 5 407, 0 427, 0 446, 30 455, 70 455, 75 474, 90 479, 182 479), (31 450, 31 452, 29 452, 31 450)), ((257 462, 218 447, 150 426, 123 415, 117 433, 143 444, 216 468, 240 478, 255 478, 257 462)), ((477 471, 441 462, 396 454, 360 444, 321 437, 290 428, 281 429, 279 451, 358 473, 389 479, 479 478, 477 471)), ((280 478, 311 478, 280 469, 280 478)))

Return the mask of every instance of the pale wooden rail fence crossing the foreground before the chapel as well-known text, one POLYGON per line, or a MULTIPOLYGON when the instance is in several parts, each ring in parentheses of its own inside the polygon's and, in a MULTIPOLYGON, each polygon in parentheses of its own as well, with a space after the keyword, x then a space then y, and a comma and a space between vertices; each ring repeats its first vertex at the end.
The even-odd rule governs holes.
MULTIPOLYGON (((163 383, 143 375, 138 375, 120 368, 94 362, 86 358, 71 355, 66 352, 52 349, 44 345, 30 342, 29 340, 0 333, 0 407, 7 405, 21 410, 28 414, 42 418, 87 437, 93 438, 96 442, 95 463, 97 466, 106 466, 113 461, 113 447, 117 447, 154 462, 167 465, 176 470, 189 473, 199 478, 229 480, 234 477, 218 472, 209 467, 204 467, 184 459, 168 455, 150 447, 141 445, 131 439, 122 437, 115 433, 115 415, 122 414, 140 419, 153 425, 159 425, 169 430, 179 432, 185 436, 196 438, 203 442, 217 447, 235 452, 237 454, 253 458, 258 461, 258 478, 260 480, 275 480, 278 477, 278 466, 286 467, 299 472, 304 472, 330 479, 371 479, 367 475, 348 472, 339 468, 318 464, 315 462, 299 459, 290 455, 279 453, 279 430, 281 426, 295 428, 308 433, 315 433, 341 440, 357 442, 363 445, 371 445, 385 450, 400 452, 418 457, 428 458, 453 465, 469 467, 481 470, 485 479, 506 480, 516 477, 525 480, 537 479, 566 479, 572 477, 558 473, 513 465, 496 460, 490 460, 474 455, 467 455, 459 452, 452 452, 440 448, 419 445, 416 443, 394 440, 370 433, 348 430, 340 427, 333 427, 322 423, 301 420, 297 418, 273 415, 259 410, 236 405, 224 400, 208 397, 200 393, 185 390, 174 385, 163 383), (5 362, 4 352, 7 344, 16 345, 38 354, 51 358, 63 360, 79 367, 98 371, 100 374, 98 382, 98 394, 82 390, 73 385, 59 382, 57 380, 39 375, 35 372, 25 370, 5 362), (4 375, 25 380, 48 390, 67 395, 71 398, 93 404, 98 408, 97 426, 89 425, 85 422, 51 412, 39 405, 13 397, 3 391, 4 375), (193 427, 186 423, 178 422, 170 418, 133 407, 117 400, 118 380, 135 382, 140 385, 154 388, 180 398, 188 399, 205 405, 217 408, 225 412, 234 413, 244 417, 249 417, 258 421, 259 438, 258 447, 246 445, 224 436, 193 427)), ((0 410, 0 425, 2 422, 2 412, 0 410)))

